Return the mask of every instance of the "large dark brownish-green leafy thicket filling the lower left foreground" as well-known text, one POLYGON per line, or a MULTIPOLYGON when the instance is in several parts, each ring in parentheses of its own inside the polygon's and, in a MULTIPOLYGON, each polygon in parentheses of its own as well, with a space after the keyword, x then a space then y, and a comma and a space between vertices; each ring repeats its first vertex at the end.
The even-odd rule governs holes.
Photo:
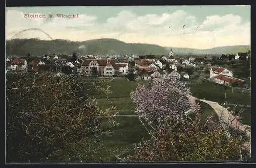
POLYGON ((92 154, 88 146, 101 146, 103 115, 110 111, 100 111, 87 93, 105 87, 86 87, 75 76, 7 74, 7 162, 87 161, 77 146, 86 141, 83 150, 92 154))

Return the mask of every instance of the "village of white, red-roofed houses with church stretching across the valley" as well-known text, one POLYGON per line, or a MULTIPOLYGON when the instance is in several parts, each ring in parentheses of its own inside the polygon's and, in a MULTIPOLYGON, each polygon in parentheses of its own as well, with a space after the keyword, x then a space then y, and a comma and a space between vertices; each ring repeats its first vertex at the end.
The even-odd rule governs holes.
MULTIPOLYGON (((242 86, 250 76, 239 79, 232 70, 225 66, 219 66, 217 62, 233 63, 247 62, 250 60, 248 53, 237 53, 236 55, 224 55, 221 57, 175 57, 170 49, 168 56, 155 55, 125 55, 120 56, 93 56, 93 55, 45 55, 32 57, 7 57, 6 70, 17 72, 36 73, 40 71, 54 71, 57 75, 72 74, 84 77, 126 77, 129 80, 151 80, 162 75, 170 78, 178 78, 188 81, 200 78, 198 71, 207 72, 203 79, 211 82, 228 85, 242 86)), ((201 77, 202 78, 202 77, 201 77)))

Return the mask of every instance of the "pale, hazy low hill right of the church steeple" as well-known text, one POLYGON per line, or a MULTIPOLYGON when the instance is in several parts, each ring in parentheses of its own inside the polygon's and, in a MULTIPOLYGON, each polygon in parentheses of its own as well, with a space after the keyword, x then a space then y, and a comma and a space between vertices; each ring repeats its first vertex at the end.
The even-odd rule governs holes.
POLYGON ((233 46, 220 46, 214 47, 212 49, 188 49, 180 47, 165 47, 166 50, 172 48, 174 54, 190 55, 190 54, 211 54, 211 55, 221 55, 221 54, 237 54, 238 52, 247 52, 250 50, 250 45, 233 45, 233 46))

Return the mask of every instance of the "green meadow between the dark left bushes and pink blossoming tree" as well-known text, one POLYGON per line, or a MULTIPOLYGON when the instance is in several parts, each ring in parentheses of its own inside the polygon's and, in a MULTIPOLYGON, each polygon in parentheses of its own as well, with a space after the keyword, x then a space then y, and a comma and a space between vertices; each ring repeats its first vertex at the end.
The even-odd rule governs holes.
MULTIPOLYGON (((131 82, 126 79, 115 79, 110 82, 110 95, 112 103, 105 99, 98 99, 97 104, 100 109, 106 109, 112 106, 116 107, 118 115, 136 115, 135 104, 130 98, 130 93, 138 84, 146 84, 142 82, 131 82)), ((149 138, 147 131, 141 125, 138 117, 117 117, 118 126, 111 129, 112 136, 103 137, 105 149, 102 150, 101 158, 104 161, 117 161, 117 155, 124 157, 133 149, 134 143, 141 141, 141 138, 149 138)))

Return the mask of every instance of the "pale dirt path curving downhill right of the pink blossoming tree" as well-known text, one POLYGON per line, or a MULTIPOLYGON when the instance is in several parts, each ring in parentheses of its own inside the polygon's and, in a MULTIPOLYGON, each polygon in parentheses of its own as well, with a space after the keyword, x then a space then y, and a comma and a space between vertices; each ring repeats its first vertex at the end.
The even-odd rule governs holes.
MULTIPOLYGON (((190 96, 190 99, 194 99, 196 100, 197 98, 190 96)), ((226 108, 224 108, 223 106, 219 105, 217 102, 212 102, 212 101, 208 101, 208 100, 203 100, 203 99, 198 99, 201 102, 207 103, 208 105, 210 105, 215 112, 217 113, 217 115, 219 116, 219 119, 221 121, 221 123, 225 123, 228 126, 231 126, 233 128, 238 128, 241 131, 246 131, 247 136, 250 138, 250 141, 248 143, 245 144, 245 147, 247 147, 250 151, 251 151, 251 132, 250 132, 250 126, 248 125, 242 125, 236 116, 232 115, 231 111, 228 111, 226 108)), ((225 127, 223 125, 223 127, 225 127)))

